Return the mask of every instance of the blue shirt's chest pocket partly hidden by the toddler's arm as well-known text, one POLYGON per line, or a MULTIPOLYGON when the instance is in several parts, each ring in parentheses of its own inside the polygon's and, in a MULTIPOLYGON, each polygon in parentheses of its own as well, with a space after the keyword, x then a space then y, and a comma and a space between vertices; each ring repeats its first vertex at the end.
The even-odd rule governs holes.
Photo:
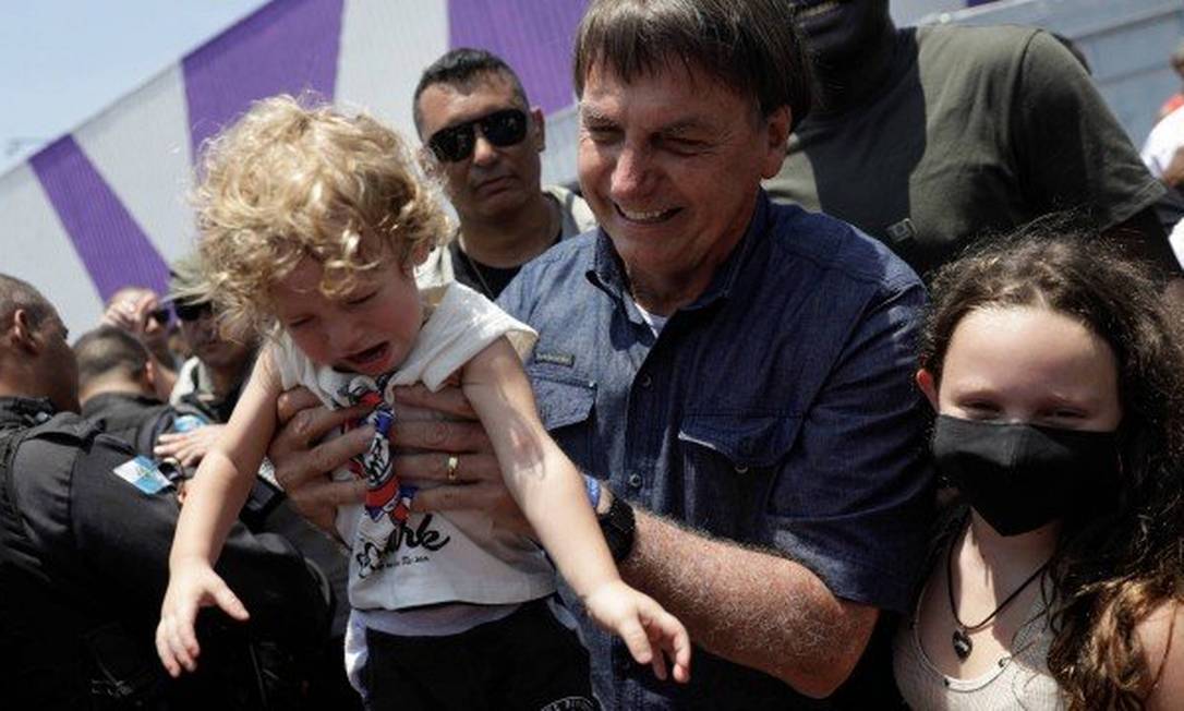
POLYGON ((560 449, 584 470, 592 468, 596 383, 528 369, 539 418, 560 449))

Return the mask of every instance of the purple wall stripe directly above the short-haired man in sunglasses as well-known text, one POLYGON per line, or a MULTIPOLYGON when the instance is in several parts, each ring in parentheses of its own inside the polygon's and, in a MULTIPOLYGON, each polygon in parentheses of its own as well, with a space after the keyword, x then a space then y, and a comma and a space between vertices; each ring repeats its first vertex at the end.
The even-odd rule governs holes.
POLYGON ((547 114, 573 103, 572 41, 587 0, 449 0, 449 46, 489 50, 547 114))

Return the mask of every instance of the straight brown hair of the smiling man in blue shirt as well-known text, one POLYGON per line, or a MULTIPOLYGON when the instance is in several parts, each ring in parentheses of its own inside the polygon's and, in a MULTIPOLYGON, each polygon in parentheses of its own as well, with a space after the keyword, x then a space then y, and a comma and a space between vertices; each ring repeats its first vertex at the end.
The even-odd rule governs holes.
POLYGON ((630 82, 676 63, 707 72, 768 116, 797 126, 813 101, 813 69, 786 0, 594 0, 575 34, 575 94, 593 69, 630 82))

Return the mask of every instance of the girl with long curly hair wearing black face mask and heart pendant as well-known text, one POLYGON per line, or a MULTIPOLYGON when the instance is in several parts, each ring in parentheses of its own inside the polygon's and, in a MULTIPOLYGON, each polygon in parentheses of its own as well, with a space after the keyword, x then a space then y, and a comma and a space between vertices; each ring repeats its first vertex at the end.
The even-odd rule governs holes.
POLYGON ((938 274, 916 382, 958 498, 894 640, 910 706, 1184 699, 1184 350, 1144 273, 1037 225, 938 274))

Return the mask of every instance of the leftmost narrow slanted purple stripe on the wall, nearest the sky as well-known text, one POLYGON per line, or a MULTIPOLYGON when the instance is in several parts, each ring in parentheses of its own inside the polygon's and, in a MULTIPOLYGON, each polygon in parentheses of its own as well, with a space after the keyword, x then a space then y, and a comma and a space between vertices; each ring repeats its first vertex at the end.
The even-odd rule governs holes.
POLYGON ((58 139, 30 164, 103 301, 127 284, 165 293, 165 261, 72 136, 58 139))

